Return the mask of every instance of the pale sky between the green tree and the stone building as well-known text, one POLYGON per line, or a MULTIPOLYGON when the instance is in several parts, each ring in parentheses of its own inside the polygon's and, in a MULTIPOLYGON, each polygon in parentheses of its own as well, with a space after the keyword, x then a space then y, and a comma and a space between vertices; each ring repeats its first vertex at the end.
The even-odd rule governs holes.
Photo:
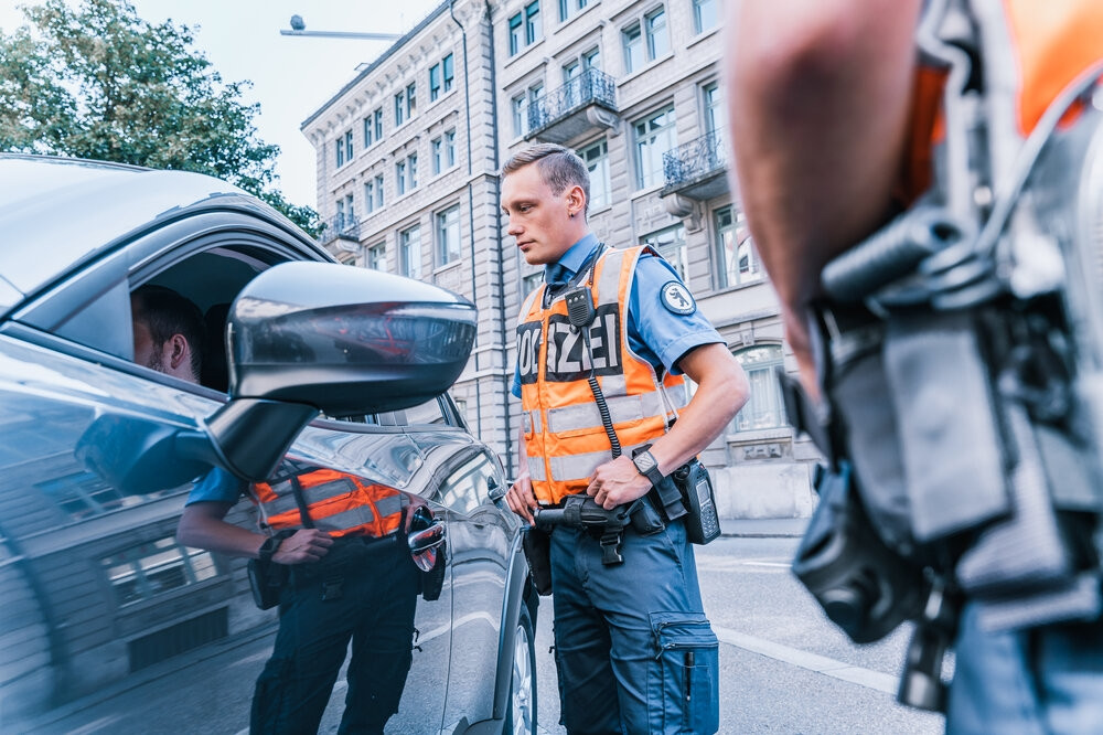
MULTIPOLYGON (((76 2, 76 0, 69 0, 76 2)), ((280 35, 293 14, 311 31, 405 33, 440 0, 131 0, 151 23, 193 26, 202 51, 224 82, 249 79, 246 103, 260 103, 258 137, 280 147, 279 188, 295 204, 317 209, 314 147, 299 126, 374 61, 389 41, 280 35), (197 29, 194 26, 199 26, 197 29)), ((0 29, 23 23, 19 8, 33 0, 0 0, 0 29)))

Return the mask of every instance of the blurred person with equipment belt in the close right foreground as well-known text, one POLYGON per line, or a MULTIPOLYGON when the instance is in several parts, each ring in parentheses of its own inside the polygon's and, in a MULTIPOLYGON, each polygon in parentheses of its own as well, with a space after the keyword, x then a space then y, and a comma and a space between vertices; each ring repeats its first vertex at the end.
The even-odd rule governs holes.
POLYGON ((1103 251, 1103 3, 726 21, 739 191, 804 387, 786 407, 827 459, 794 572, 858 642, 917 621, 899 699, 947 732, 1099 732, 1103 313, 1078 264, 1103 251))

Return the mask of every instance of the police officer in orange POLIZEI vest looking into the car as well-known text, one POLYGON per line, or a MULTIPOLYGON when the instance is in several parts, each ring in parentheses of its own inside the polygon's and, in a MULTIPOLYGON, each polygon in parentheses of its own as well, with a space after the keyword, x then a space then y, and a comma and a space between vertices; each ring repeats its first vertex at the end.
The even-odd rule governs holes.
MULTIPOLYGON (((634 501, 728 425, 747 400, 746 375, 662 257, 590 233, 578 156, 533 146, 502 177, 508 234, 527 263, 546 266, 518 319, 513 393, 524 420, 510 508, 532 523, 535 509, 575 493, 606 509, 634 501), (588 334, 571 329, 564 302, 580 288, 595 306, 588 334), (683 373, 698 387, 679 408, 683 373), (623 448, 615 459, 591 375, 623 448)), ((603 564, 600 540, 582 529, 557 526, 550 546, 568 732, 715 732, 717 642, 684 523, 625 531, 622 564, 603 564)))

